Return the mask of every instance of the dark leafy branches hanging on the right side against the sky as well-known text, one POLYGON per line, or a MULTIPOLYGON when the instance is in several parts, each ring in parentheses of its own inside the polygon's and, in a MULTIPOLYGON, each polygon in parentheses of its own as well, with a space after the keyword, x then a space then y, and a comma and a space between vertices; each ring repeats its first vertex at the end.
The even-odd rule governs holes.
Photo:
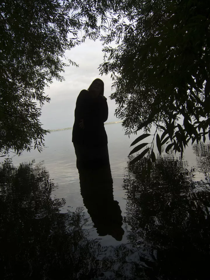
POLYGON ((112 73, 115 115, 128 135, 150 132, 155 125, 150 157, 155 142, 159 152, 166 143, 166 152, 173 148, 182 157, 189 141, 205 143, 206 134, 210 139, 210 2, 129 1, 122 6, 127 20, 116 17, 101 36, 104 45, 117 44, 104 47, 100 65, 101 74, 112 73))

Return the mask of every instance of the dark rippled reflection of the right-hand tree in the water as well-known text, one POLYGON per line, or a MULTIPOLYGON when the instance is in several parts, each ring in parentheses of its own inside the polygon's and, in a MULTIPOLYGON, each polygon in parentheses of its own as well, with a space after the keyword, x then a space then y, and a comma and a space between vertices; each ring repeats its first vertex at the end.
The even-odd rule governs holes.
POLYGON ((129 165, 124 179, 128 239, 155 263, 153 277, 207 279, 210 192, 199 191, 172 156, 158 157, 142 180, 145 164, 129 165))

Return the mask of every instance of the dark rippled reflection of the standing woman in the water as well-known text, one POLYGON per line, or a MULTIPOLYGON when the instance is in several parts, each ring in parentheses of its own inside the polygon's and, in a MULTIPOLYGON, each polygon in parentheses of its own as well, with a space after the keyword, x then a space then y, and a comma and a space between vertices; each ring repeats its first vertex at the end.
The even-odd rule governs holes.
POLYGON ((110 165, 101 168, 79 169, 83 203, 99 236, 111 235, 122 240, 122 211, 113 197, 113 181, 110 165))

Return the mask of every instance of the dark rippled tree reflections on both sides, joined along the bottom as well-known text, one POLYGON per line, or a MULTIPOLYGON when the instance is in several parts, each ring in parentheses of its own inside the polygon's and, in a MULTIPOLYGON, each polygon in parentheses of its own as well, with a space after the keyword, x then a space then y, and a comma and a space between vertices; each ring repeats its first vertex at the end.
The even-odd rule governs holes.
POLYGON ((41 164, 4 163, 1 277, 206 279, 209 193, 197 191, 184 163, 171 157, 158 157, 150 178, 142 180, 141 172, 139 164, 130 166, 125 178, 130 244, 102 247, 99 240, 87 238, 82 211, 59 213, 65 201, 52 199, 55 185, 41 164))

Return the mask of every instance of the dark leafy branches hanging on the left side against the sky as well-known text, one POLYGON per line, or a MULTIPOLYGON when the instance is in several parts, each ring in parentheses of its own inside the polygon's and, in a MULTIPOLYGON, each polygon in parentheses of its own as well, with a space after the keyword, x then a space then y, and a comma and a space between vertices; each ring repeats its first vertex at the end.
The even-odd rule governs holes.
POLYGON ((104 10, 116 9, 117 2, 7 0, 0 4, 0 153, 20 154, 29 151, 33 142, 42 150, 48 131, 39 122, 38 106, 50 101, 45 87, 53 79, 64 80, 64 67, 76 65, 65 51, 87 37, 95 40, 103 29, 104 10))

